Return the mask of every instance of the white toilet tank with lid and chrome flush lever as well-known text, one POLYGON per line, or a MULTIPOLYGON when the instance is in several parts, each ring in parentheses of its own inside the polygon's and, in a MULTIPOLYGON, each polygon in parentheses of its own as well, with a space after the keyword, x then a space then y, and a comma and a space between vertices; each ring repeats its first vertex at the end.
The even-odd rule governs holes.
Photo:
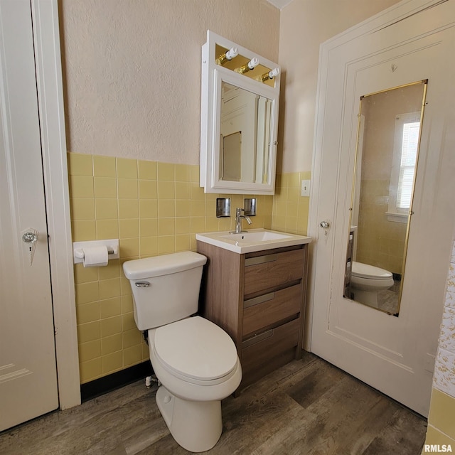
POLYGON ((192 251, 124 262, 137 328, 144 331, 195 314, 205 262, 205 256, 192 251))

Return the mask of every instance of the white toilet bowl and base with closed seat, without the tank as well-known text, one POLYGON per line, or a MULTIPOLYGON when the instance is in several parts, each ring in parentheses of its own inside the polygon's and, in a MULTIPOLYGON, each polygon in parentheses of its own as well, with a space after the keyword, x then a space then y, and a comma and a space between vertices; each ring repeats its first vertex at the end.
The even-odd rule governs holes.
POLYGON ((173 438, 189 451, 211 449, 223 431, 221 400, 242 379, 232 339, 195 316, 150 329, 149 352, 162 384, 156 404, 173 438))

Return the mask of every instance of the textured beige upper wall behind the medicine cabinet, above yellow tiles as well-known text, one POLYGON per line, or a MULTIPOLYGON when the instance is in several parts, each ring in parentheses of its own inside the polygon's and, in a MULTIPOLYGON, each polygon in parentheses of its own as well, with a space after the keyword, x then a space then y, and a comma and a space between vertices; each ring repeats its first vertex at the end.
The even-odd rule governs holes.
POLYGON ((266 0, 60 0, 68 149, 198 164, 208 29, 278 60, 266 0))

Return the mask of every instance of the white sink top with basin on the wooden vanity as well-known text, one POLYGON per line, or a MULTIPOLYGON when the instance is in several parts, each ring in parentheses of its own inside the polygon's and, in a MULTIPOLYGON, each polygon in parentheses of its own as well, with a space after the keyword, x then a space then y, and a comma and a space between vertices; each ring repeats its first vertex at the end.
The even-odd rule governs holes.
POLYGON ((302 245, 311 242, 311 237, 267 229, 252 229, 240 234, 230 234, 229 232, 196 234, 196 240, 242 254, 302 245))

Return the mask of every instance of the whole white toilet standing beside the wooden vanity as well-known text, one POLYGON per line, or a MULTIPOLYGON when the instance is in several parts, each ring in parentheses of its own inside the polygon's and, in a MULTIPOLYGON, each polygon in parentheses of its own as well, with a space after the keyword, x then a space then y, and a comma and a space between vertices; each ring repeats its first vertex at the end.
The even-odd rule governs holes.
POLYGON ((207 258, 186 251, 124 262, 134 321, 148 335, 156 404, 173 439, 184 449, 211 449, 223 431, 221 400, 240 385, 235 344, 200 316, 200 280, 207 258))

